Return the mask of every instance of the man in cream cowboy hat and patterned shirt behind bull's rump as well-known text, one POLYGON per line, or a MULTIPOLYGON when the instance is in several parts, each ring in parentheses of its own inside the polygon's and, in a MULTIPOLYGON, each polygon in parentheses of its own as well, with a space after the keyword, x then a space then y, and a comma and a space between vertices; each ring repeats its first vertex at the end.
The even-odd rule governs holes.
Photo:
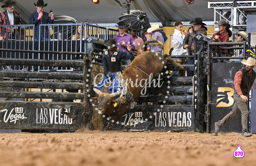
POLYGON ((162 46, 158 46, 153 43, 147 44, 147 46, 150 48, 150 51, 155 52, 156 55, 158 56, 162 56, 163 44, 165 43, 162 33, 159 32, 159 30, 162 30, 162 29, 163 28, 159 28, 158 24, 153 24, 151 25, 151 28, 147 29, 147 32, 145 33, 145 36, 147 37, 147 41, 158 40, 159 42, 162 42, 162 46))

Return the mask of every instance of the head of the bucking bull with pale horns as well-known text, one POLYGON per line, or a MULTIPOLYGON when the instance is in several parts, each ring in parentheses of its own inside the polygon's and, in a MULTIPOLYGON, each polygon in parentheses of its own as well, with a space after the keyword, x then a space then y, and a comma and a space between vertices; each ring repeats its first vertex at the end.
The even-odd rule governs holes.
POLYGON ((92 101, 98 105, 98 114, 104 115, 106 110, 112 109, 117 106, 117 101, 114 99, 115 96, 119 95, 121 92, 116 92, 113 94, 106 94, 100 90, 93 88, 93 90, 99 95, 98 97, 92 97, 92 101))

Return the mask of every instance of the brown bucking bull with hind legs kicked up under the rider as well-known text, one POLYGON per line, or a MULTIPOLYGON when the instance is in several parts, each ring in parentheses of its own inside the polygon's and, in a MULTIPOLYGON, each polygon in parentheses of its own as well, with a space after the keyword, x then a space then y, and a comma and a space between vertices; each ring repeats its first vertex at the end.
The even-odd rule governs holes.
MULTIPOLYGON (((162 72, 165 65, 173 65, 175 69, 184 69, 180 60, 173 60, 168 56, 168 54, 165 54, 161 58, 156 56, 156 54, 151 51, 142 52, 141 48, 147 43, 162 44, 157 40, 151 40, 141 44, 137 52, 137 57, 122 74, 124 80, 128 80, 128 90, 130 90, 130 92, 133 94, 134 101, 136 101, 141 95, 141 91, 143 90, 144 86, 147 86, 147 84, 144 84, 145 81, 150 79, 150 77, 153 78, 159 72, 162 72), (136 82, 143 82, 141 84, 144 86, 131 86, 131 82, 133 84, 136 82)), ((106 86, 103 86, 101 90, 94 88, 94 91, 99 96, 92 97, 91 100, 98 105, 98 113, 100 115, 105 115, 103 116, 102 130, 109 130, 109 127, 113 122, 117 122, 118 119, 126 114, 129 102, 127 100, 120 102, 117 101, 117 99, 114 99, 114 97, 119 95, 120 92, 110 94, 109 88, 106 86)))

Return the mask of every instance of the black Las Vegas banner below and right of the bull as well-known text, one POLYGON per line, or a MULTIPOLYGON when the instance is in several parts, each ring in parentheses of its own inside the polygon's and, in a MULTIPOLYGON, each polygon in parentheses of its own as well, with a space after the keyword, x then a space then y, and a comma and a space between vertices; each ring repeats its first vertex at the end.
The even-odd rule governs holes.
POLYGON ((194 107, 185 105, 143 106, 128 110, 113 130, 194 130, 194 107))

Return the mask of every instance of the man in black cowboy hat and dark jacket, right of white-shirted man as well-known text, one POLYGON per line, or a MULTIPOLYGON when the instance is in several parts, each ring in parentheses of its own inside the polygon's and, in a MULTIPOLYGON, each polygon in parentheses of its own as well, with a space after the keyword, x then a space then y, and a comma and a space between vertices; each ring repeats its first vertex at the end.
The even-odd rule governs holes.
MULTIPOLYGON (((189 23, 190 25, 194 25, 193 29, 189 29, 188 33, 186 34, 183 40, 183 47, 184 49, 188 48, 188 55, 195 56, 195 44, 193 42, 194 37, 196 34, 203 34, 207 35, 207 29, 203 23, 202 18, 195 18, 194 21, 189 23)), ((189 58, 188 63, 194 64, 195 58, 189 58)), ((187 76, 194 76, 194 71, 187 71, 187 76)))

